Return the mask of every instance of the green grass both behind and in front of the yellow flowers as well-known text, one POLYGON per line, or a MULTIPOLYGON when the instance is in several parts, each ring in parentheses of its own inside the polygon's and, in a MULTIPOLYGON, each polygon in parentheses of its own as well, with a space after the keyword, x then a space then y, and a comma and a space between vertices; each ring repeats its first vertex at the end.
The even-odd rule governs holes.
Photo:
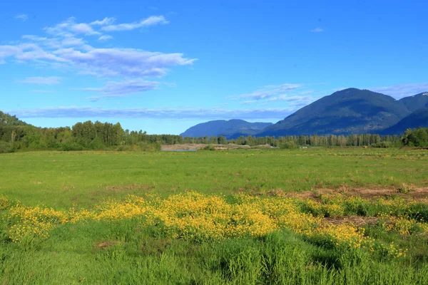
MULTIPOLYGON (((55 209, 91 208, 103 199, 151 192, 161 197, 185 190, 263 194, 403 184, 428 186, 428 152, 332 148, 0 155, 0 194, 55 209)), ((426 215, 427 204, 415 210, 426 215)), ((347 212, 358 214, 353 208, 347 212)), ((378 226, 367 226, 367 236, 409 249, 406 257, 325 247, 286 230, 210 242, 169 239, 156 227, 141 227, 138 219, 61 224, 47 239, 14 243, 7 235, 7 214, 0 210, 0 284, 428 284, 428 237, 378 226)))

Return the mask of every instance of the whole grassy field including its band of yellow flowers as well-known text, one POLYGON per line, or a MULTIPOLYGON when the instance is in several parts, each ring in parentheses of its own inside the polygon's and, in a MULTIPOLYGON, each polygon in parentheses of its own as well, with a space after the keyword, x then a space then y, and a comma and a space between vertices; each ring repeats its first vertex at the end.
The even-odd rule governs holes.
POLYGON ((0 155, 0 284, 428 284, 427 189, 426 150, 0 155))

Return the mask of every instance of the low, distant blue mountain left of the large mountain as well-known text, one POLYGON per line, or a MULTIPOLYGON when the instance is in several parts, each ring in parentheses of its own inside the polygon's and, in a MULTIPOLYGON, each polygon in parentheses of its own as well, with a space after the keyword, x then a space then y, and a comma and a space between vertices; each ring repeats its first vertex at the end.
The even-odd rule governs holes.
POLYGON ((223 135, 226 138, 237 138, 238 135, 255 135, 272 123, 249 123, 245 120, 211 120, 194 125, 184 133, 183 137, 212 137, 223 135))

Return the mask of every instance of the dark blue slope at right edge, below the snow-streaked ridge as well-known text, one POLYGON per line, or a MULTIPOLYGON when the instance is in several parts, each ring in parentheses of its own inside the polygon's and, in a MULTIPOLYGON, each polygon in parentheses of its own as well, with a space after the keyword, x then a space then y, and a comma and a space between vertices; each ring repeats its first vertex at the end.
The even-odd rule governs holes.
POLYGON ((397 124, 383 130, 382 135, 402 135, 408 128, 428 128, 428 103, 424 108, 415 110, 397 124))

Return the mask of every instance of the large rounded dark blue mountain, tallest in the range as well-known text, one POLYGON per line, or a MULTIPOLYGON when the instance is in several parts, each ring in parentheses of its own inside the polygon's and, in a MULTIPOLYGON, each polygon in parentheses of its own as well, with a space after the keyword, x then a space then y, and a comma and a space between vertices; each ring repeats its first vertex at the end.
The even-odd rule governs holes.
POLYGON ((388 95, 348 88, 320 98, 257 135, 379 133, 410 113, 402 101, 388 95))

